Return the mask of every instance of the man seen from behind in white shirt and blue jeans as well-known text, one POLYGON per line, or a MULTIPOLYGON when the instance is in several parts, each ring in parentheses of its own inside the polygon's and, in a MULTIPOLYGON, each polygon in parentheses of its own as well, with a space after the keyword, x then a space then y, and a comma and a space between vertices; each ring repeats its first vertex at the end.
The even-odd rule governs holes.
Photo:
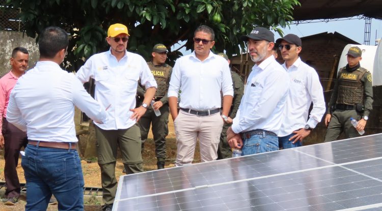
POLYGON ((46 210, 53 194, 59 210, 84 210, 84 177, 76 150, 74 106, 100 124, 105 108, 74 74, 60 68, 68 34, 47 27, 40 34, 40 60, 20 77, 10 96, 7 120, 26 131, 29 142, 21 158, 26 180, 25 210, 46 210))

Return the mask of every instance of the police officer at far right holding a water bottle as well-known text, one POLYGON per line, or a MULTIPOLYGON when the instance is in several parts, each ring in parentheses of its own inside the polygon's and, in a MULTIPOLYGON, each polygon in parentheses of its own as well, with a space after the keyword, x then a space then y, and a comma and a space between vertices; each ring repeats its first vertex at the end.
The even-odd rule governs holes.
POLYGON ((364 130, 373 103, 371 73, 360 66, 362 50, 351 47, 347 52, 347 65, 340 69, 328 108, 325 125, 328 127, 325 142, 334 141, 342 131, 345 138, 358 137, 364 130), (350 117, 358 120, 357 130, 350 117), (328 126, 329 125, 329 126, 328 126))

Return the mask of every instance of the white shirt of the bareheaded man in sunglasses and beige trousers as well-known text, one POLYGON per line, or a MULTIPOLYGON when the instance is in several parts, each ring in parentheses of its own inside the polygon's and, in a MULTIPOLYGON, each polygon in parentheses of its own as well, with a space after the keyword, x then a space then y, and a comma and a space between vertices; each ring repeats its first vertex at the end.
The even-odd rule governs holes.
POLYGON ((220 108, 223 96, 233 96, 228 62, 211 51, 202 62, 195 51, 177 59, 171 75, 168 97, 178 97, 181 108, 207 110, 220 108))

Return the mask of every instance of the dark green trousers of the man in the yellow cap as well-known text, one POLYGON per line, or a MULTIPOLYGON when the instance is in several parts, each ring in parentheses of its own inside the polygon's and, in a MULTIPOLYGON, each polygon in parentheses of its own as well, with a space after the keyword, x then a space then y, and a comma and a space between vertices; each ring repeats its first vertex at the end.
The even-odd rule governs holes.
POLYGON ((120 130, 103 130, 95 126, 95 132, 98 165, 101 168, 102 199, 105 204, 112 204, 118 185, 115 176, 117 147, 121 150, 126 173, 142 172, 141 132, 137 125, 120 130))

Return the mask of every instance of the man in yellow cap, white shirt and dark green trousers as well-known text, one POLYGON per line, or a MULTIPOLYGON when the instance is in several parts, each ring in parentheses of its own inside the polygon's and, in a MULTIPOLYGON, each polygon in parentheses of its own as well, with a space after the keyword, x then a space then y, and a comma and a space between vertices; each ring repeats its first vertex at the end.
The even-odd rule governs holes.
POLYGON ((117 147, 120 147, 126 173, 143 171, 141 133, 137 122, 154 97, 157 84, 145 59, 127 52, 127 27, 117 23, 107 30, 106 42, 110 50, 91 56, 77 72, 85 83, 95 80, 95 99, 109 115, 104 124, 95 123, 98 165, 101 168, 103 190, 102 210, 112 210, 117 191, 115 177, 117 147), (138 81, 146 88, 141 106, 135 108, 138 81))

